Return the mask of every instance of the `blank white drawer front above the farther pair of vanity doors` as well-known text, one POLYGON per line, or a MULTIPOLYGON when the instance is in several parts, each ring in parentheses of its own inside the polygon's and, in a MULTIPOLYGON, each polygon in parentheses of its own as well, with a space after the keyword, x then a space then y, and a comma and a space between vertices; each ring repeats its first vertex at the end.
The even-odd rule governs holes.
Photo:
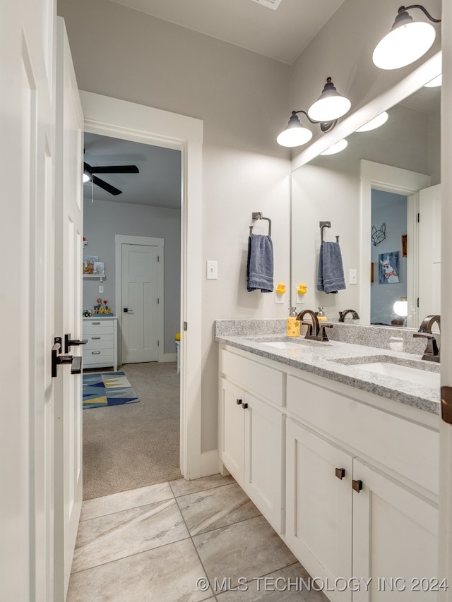
POLYGON ((284 375, 278 370, 251 361, 230 351, 220 351, 222 373, 245 390, 278 406, 283 405, 284 375))

